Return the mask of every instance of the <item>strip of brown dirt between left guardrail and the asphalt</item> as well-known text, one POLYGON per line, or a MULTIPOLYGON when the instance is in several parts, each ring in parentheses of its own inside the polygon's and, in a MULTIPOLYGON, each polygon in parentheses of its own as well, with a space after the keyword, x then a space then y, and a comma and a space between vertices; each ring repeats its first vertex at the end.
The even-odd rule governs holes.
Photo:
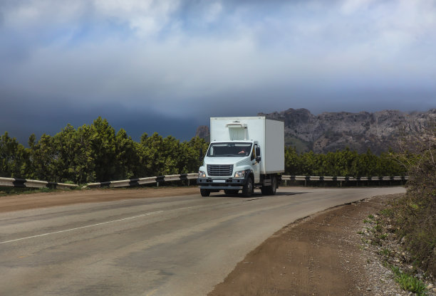
POLYGON ((140 188, 140 189, 88 189, 83 191, 56 191, 50 193, 0 196, 0 213, 66 206, 74 203, 119 201, 122 199, 145 199, 150 197, 198 194, 197 186, 140 188))

